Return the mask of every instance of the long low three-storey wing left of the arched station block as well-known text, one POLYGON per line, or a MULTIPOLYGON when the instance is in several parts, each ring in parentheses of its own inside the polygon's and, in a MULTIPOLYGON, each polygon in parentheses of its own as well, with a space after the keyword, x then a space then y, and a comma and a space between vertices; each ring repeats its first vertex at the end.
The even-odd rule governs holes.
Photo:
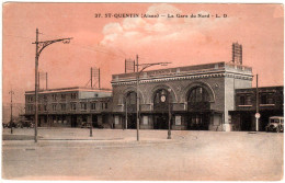
MULTIPOLYGON (((25 92, 25 116, 34 121, 35 92, 25 92)), ((38 91, 38 126, 112 127, 112 91, 107 89, 62 88, 38 91)))

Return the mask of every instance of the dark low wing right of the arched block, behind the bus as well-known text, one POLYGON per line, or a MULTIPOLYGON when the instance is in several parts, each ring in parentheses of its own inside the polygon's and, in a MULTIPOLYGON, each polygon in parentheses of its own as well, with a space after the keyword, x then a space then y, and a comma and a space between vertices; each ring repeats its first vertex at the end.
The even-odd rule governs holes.
POLYGON ((230 111, 233 130, 255 130, 255 113, 259 106, 259 130, 265 130, 271 116, 284 115, 284 87, 262 87, 235 91, 236 106, 230 111))

